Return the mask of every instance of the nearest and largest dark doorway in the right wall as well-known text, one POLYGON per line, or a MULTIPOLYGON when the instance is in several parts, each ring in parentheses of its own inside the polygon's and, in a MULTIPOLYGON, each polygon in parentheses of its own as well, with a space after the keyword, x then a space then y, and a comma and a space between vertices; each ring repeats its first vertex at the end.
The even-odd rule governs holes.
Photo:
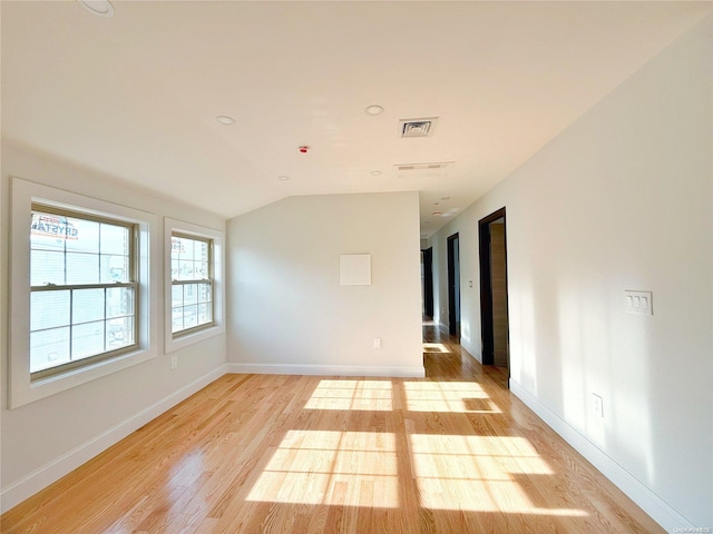
POLYGON ((505 208, 478 221, 482 364, 510 369, 505 208))

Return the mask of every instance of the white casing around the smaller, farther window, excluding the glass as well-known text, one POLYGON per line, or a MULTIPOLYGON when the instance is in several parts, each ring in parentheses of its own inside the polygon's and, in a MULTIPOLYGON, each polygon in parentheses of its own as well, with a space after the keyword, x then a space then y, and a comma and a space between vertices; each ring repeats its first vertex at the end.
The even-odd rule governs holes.
POLYGON ((223 276, 225 273, 224 239, 223 231, 207 228, 183 220, 164 219, 164 334, 166 354, 187 347, 195 343, 208 339, 225 333, 225 284, 223 276), (183 330, 176 334, 172 332, 172 277, 170 277, 170 247, 174 234, 198 239, 209 239, 213 244, 213 324, 203 328, 183 330))

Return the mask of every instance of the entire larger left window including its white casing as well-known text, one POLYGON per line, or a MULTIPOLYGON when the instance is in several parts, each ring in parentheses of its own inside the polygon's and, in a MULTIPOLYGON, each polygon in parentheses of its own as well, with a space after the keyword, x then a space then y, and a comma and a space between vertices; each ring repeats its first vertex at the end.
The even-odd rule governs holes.
POLYGON ((156 357, 157 217, 19 178, 11 195, 10 408, 156 357))

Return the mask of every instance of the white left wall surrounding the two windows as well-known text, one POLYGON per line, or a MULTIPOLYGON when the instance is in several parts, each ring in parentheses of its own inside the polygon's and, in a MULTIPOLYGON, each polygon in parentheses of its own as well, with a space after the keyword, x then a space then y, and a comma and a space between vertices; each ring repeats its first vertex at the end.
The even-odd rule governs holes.
MULTIPOLYGON (((225 229, 225 221, 186 205, 158 198, 109 177, 27 148, 2 142, 2 274, 1 310, 8 317, 9 177, 45 184, 72 192, 130 206, 188 222, 225 229)), ((163 222, 162 222, 163 227, 163 222)), ((160 240, 163 229, 160 230, 160 240)), ((163 256, 162 256, 163 257, 163 256)), ((165 273, 163 263, 158 266, 165 273)), ((169 370, 164 354, 164 278, 159 276, 156 317, 158 356, 109 376, 41 400, 8 409, 7 322, 2 322, 2 380, 0 380, 2 510, 36 493, 100 451, 168 409, 225 370, 225 334, 192 345, 178 355, 178 368, 169 370)))

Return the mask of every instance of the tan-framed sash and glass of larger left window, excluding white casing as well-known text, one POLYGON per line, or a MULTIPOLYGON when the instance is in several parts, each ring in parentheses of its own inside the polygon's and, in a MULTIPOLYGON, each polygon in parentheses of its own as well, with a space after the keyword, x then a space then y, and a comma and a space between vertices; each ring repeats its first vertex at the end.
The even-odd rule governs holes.
POLYGON ((32 206, 32 378, 136 347, 135 236, 135 225, 32 206))

